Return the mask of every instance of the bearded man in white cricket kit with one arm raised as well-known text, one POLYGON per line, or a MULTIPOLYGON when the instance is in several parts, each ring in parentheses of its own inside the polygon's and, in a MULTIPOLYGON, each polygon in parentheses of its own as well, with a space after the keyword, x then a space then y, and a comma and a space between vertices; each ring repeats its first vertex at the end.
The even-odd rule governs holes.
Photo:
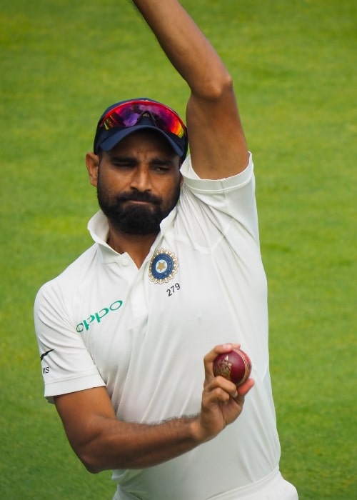
POLYGON ((116 500, 297 499, 278 471, 253 164, 231 77, 176 0, 134 4, 191 89, 187 130, 146 98, 99 119, 86 155, 94 246, 36 298, 45 396, 87 469, 114 469, 116 500), (213 360, 240 344, 254 381, 237 389, 213 360))

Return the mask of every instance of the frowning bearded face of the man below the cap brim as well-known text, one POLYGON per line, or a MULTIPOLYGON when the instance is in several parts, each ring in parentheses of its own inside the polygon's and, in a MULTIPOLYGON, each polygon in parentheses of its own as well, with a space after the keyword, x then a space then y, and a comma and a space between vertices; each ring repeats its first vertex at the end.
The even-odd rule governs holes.
POLYGON ((111 226, 126 234, 157 234, 178 201, 180 159, 155 131, 123 139, 99 162, 97 196, 111 226))

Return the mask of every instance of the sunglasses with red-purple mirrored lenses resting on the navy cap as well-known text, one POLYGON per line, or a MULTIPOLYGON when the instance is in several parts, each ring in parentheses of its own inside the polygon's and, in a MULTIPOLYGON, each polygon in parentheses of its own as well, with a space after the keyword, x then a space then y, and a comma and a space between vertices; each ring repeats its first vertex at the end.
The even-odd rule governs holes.
POLYGON ((158 129, 174 134, 178 139, 187 135, 185 124, 173 109, 145 100, 127 101, 110 109, 101 119, 99 128, 109 130, 134 126, 144 116, 149 116, 158 129))

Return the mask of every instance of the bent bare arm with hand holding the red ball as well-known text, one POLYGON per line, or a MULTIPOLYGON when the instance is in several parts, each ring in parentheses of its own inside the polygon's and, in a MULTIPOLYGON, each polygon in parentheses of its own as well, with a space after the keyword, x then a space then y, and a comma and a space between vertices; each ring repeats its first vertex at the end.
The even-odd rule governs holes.
POLYGON ((205 381, 201 412, 160 424, 137 424, 116 419, 105 387, 55 396, 69 442, 86 469, 143 469, 179 456, 219 434, 241 414, 253 380, 236 386, 213 376, 213 360, 232 349, 216 346, 204 359, 205 381))

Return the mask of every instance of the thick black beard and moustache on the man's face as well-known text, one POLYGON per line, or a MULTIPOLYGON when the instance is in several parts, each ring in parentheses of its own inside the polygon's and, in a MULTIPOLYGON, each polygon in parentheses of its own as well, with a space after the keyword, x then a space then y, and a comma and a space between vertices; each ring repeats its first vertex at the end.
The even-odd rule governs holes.
POLYGON ((160 231, 161 221, 169 215, 177 203, 180 188, 175 194, 168 209, 163 209, 163 201, 159 196, 147 192, 133 191, 109 199, 98 183, 97 196, 99 206, 111 222, 114 229, 126 234, 157 234, 160 231), (127 203, 128 200, 146 201, 151 205, 136 205, 127 203))

